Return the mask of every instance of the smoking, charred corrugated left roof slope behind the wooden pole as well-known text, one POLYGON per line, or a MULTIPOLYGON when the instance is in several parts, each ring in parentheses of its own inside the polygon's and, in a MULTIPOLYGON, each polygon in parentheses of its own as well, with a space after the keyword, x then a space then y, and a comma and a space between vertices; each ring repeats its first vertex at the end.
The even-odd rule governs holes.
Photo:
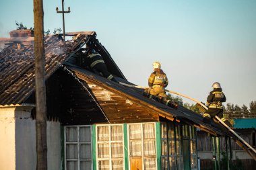
MULTIPOLYGON (((79 46, 95 34, 95 32, 79 32, 75 38, 66 42, 66 46, 58 35, 46 38, 44 43, 46 79, 61 67, 79 46)), ((12 43, 0 52, 0 105, 20 104, 30 96, 34 91, 34 69, 33 45, 18 49, 17 44, 12 43)))

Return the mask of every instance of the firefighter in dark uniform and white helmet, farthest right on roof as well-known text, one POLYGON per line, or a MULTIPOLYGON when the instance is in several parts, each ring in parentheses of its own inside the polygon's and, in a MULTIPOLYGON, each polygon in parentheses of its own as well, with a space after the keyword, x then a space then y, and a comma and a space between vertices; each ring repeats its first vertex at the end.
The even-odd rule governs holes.
POLYGON ((212 87, 214 87, 214 90, 207 97, 206 105, 208 110, 203 114, 203 122, 210 123, 211 118, 218 116, 226 125, 232 128, 230 122, 223 117, 222 102, 226 101, 226 96, 222 92, 222 87, 218 82, 213 83, 212 87))

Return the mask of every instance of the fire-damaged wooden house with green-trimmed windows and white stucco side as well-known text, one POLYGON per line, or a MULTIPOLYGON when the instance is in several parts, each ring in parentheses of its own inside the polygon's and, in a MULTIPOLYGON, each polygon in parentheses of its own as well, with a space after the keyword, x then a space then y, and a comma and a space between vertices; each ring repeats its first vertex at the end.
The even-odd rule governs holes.
MULTIPOLYGON (((199 169, 197 129, 230 136, 84 67, 79 52, 90 44, 118 81, 132 85, 96 32, 66 36, 66 46, 61 34, 45 38, 48 169, 199 169)), ((36 169, 33 46, 17 41, 0 52, 0 169, 36 169)))

